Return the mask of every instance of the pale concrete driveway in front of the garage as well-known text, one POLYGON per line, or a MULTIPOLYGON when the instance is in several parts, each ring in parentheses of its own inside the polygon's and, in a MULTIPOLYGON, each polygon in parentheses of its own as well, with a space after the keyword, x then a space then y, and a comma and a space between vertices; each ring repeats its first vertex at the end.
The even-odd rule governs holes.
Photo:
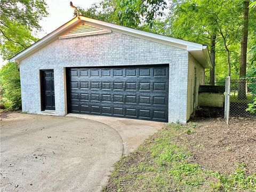
POLYGON ((113 164, 163 126, 68 116, 2 115, 1 191, 100 191, 113 164))

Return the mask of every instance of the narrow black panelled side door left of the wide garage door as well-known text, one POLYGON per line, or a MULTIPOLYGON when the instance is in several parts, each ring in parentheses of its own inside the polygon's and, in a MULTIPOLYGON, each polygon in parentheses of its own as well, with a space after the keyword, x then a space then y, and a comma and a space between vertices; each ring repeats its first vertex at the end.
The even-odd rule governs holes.
POLYGON ((55 110, 53 70, 41 71, 42 110, 55 110))

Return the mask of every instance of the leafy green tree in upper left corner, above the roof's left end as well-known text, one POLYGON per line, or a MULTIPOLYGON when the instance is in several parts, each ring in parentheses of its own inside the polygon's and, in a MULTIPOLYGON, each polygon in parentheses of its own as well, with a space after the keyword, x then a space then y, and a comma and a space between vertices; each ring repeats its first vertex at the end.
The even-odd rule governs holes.
POLYGON ((41 30, 39 20, 47 14, 44 0, 0 1, 0 46, 3 59, 12 57, 37 40, 32 31, 41 30))

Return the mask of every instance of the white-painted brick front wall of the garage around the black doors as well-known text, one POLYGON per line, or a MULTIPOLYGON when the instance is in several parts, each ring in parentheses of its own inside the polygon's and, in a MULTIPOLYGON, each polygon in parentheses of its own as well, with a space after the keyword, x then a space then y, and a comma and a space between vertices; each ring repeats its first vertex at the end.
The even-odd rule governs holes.
POLYGON ((22 110, 42 114, 39 71, 54 70, 55 115, 67 114, 66 67, 169 64, 169 122, 187 121, 188 52, 113 31, 57 39, 20 62, 22 110))

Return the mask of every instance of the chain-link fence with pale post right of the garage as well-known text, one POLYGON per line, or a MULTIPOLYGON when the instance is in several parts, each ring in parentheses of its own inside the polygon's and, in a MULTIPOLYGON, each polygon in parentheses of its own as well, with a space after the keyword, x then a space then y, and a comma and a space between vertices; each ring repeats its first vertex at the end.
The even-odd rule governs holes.
POLYGON ((226 78, 225 118, 254 117, 250 104, 256 101, 256 77, 230 79, 226 78))

